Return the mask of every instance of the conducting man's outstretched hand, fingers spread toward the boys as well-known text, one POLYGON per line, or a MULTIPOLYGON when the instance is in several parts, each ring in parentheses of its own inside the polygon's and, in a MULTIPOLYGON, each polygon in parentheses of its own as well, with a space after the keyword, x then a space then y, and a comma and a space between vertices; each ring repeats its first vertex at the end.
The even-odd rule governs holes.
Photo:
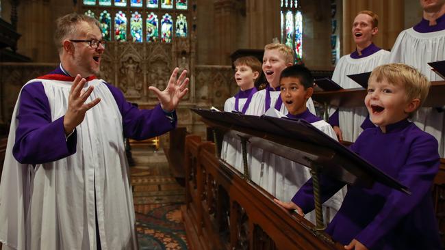
POLYGON ((168 81, 166 89, 164 91, 160 91, 157 87, 150 86, 149 89, 155 92, 157 99, 161 102, 161 107, 164 111, 171 112, 176 109, 179 101, 187 94, 188 92, 188 77, 187 70, 183 70, 178 79, 177 73, 179 68, 175 68, 173 70, 172 75, 170 76, 170 80, 168 81))

